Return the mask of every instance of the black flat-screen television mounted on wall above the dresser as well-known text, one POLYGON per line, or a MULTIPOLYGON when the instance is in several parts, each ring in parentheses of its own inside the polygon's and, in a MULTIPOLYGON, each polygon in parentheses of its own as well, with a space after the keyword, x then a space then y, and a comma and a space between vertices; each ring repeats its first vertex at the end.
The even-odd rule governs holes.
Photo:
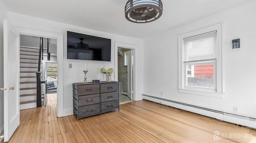
POLYGON ((111 39, 68 31, 67 58, 110 61, 111 39))

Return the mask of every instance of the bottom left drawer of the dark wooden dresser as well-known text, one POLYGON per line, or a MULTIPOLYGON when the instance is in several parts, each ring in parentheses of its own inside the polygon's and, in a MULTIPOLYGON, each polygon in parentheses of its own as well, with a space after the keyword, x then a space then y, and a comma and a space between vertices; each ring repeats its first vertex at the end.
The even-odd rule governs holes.
POLYGON ((78 107, 78 118, 100 113, 100 104, 78 107))

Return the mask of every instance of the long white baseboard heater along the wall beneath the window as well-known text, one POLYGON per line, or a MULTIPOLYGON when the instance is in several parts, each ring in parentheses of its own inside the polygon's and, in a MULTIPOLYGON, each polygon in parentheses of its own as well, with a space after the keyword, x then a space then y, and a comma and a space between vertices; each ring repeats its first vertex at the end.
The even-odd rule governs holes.
POLYGON ((238 124, 238 125, 244 125, 244 126, 252 127, 254 129, 256 129, 256 119, 254 119, 254 118, 249 118, 249 117, 245 117, 245 116, 239 116, 239 115, 235 115, 235 114, 220 112, 220 111, 211 110, 211 109, 207 109, 207 108, 202 108, 202 107, 198 107, 198 106, 192 106, 192 105, 189 105, 189 104, 183 104, 183 103, 180 103, 180 102, 166 100, 166 99, 163 99, 163 98, 158 98, 158 97, 149 96, 149 95, 145 95, 145 94, 142 94, 142 98, 145 99, 145 100, 149 100, 149 101, 152 101, 152 102, 164 104, 164 105, 171 106, 171 107, 174 107, 174 108, 186 110, 186 111, 193 112, 193 113, 196 113, 196 114, 200 114, 200 115, 216 118, 216 119, 219 119, 219 120, 222 120, 222 121, 235 123, 235 124, 238 124))

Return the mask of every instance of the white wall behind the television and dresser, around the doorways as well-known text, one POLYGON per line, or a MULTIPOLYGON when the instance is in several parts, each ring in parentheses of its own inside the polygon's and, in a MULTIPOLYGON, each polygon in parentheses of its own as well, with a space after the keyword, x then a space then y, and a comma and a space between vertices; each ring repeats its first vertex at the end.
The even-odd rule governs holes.
MULTIPOLYGON (((142 39, 136 39, 132 37, 126 37, 122 35, 116 35, 111 33, 104 33, 101 31, 96 31, 92 29, 87 29, 83 27, 78 27, 74 25, 59 23, 59 22, 53 22, 50 20, 44 20, 41 18, 35 18, 31 16, 25 16, 13 12, 9 12, 9 21, 12 25, 18 26, 18 27, 27 27, 32 29, 40 29, 45 31, 52 31, 57 33, 63 33, 64 34, 64 65, 63 65, 63 77, 64 77, 64 115, 72 115, 73 114, 73 96, 72 96, 72 83, 74 82, 83 82, 84 81, 84 72, 83 72, 83 63, 88 63, 88 73, 87 73, 87 80, 92 81, 92 79, 103 79, 103 74, 100 73, 100 69, 102 67, 105 68, 114 68, 115 57, 117 59, 117 52, 115 52, 114 49, 114 42, 122 42, 122 43, 129 43, 133 45, 137 45, 136 54, 137 57, 135 57, 137 60, 136 67, 138 71, 136 71, 136 78, 138 81, 137 84, 137 90, 136 90, 136 100, 142 100, 142 88, 139 88, 139 86, 142 85, 142 46, 143 41, 142 39), (103 62, 103 61, 85 61, 85 60, 72 60, 67 59, 67 31, 73 31, 76 33, 84 33, 88 35, 94 35, 98 37, 104 37, 111 39, 112 47, 111 47, 111 62, 103 62), (68 68, 68 64, 72 64, 72 69, 68 68)), ((117 72, 117 69, 115 69, 115 72, 117 72)), ((118 80, 117 77, 115 77, 116 74, 112 74, 112 80, 118 80)))

